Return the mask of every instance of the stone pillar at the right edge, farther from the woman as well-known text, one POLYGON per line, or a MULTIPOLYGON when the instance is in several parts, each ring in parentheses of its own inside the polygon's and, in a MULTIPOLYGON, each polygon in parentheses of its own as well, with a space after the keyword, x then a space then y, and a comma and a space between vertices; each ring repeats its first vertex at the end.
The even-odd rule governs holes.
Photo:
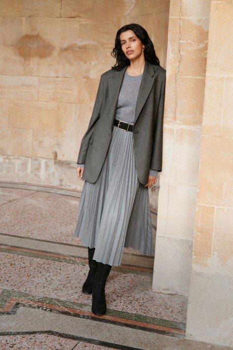
POLYGON ((186 337, 233 346, 233 1, 211 1, 186 337))

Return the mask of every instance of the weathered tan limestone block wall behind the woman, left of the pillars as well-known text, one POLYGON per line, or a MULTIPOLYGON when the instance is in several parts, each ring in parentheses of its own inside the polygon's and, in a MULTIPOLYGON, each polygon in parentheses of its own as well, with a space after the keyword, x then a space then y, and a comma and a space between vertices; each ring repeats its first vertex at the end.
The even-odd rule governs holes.
POLYGON ((116 32, 141 24, 165 67, 168 12, 169 0, 0 1, 0 181, 82 188, 78 151, 116 32))

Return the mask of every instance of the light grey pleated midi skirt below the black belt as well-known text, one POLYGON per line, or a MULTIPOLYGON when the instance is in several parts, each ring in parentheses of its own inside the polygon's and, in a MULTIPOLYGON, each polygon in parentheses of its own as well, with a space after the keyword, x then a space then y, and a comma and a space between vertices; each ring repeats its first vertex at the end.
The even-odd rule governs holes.
POLYGON ((109 265, 121 265, 124 247, 153 254, 148 187, 137 175, 133 132, 113 126, 97 180, 84 181, 74 236, 95 248, 93 260, 109 265))

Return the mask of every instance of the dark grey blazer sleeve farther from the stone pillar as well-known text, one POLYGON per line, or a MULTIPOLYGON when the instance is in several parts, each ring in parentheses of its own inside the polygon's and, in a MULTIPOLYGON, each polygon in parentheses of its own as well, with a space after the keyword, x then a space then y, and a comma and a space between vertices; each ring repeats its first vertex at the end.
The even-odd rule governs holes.
POLYGON ((85 164, 88 147, 89 147, 89 141, 92 137, 95 123, 97 122, 100 116, 100 111, 103 104, 103 95, 104 95, 104 86, 103 86, 103 77, 101 75, 89 126, 81 141, 77 164, 85 164))

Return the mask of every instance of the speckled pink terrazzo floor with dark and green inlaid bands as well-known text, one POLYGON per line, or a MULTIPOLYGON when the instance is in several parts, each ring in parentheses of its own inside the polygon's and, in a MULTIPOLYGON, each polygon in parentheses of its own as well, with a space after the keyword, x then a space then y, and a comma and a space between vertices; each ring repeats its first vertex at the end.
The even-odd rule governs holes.
POLYGON ((0 183, 0 349, 228 349, 185 339, 187 299, 152 291, 154 257, 130 248, 107 279, 107 313, 91 312, 79 198, 0 183))

